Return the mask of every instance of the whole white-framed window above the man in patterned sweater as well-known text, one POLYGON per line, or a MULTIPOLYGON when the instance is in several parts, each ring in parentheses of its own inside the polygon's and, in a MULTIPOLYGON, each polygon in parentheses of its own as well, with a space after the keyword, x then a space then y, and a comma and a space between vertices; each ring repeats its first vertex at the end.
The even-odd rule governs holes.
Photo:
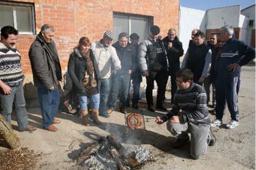
POLYGON ((0 29, 14 26, 19 34, 35 34, 33 4, 0 2, 0 29))

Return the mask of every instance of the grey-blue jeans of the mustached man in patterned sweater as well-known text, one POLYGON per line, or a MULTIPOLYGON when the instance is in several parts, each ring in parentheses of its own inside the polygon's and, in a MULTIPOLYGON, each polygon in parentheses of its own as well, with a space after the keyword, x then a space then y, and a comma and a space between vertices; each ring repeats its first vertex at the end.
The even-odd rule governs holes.
POLYGON ((12 92, 4 95, 0 92, 0 113, 11 126, 12 105, 15 105, 15 114, 20 131, 28 127, 28 115, 25 108, 26 102, 23 94, 23 85, 11 87, 12 92))

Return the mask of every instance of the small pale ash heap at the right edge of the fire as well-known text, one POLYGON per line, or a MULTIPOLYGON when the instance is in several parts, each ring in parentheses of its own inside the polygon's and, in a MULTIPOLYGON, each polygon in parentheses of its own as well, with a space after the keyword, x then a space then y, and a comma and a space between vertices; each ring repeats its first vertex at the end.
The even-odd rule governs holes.
POLYGON ((153 155, 152 153, 147 149, 147 148, 143 148, 141 146, 139 147, 135 147, 135 148, 131 148, 131 153, 129 153, 129 155, 134 155, 134 158, 141 164, 141 163, 145 163, 147 161, 153 160, 153 155))

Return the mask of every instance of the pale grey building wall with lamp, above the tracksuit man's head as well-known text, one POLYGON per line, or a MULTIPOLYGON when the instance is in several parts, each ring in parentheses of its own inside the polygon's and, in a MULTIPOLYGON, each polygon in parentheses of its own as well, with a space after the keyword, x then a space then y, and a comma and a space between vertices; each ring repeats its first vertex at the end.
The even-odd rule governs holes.
POLYGON ((221 28, 224 25, 224 20, 226 25, 239 27, 240 8, 238 5, 208 9, 206 30, 221 28), (224 17, 224 20, 221 17, 224 17))

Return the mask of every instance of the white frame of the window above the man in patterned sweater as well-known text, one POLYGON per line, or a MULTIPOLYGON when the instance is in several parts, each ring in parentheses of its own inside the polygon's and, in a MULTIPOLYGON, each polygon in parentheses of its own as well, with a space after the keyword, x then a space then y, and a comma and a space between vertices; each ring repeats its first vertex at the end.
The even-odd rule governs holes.
POLYGON ((16 7, 21 6, 21 7, 30 7, 31 9, 31 14, 32 14, 32 31, 19 31, 19 34, 24 34, 24 35, 33 35, 35 34, 35 7, 34 4, 32 3, 21 3, 21 2, 1 2, 1 5, 9 5, 12 6, 12 18, 14 20, 14 28, 17 29, 17 15, 16 15, 16 7))

